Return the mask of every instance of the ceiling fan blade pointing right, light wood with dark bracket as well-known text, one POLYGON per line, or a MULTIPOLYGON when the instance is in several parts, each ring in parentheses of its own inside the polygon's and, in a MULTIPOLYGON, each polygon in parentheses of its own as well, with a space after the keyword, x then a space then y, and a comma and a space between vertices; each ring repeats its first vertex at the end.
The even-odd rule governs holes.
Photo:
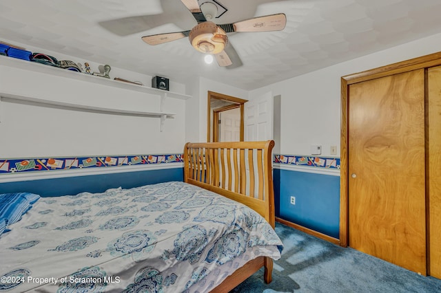
POLYGON ((218 26, 225 30, 225 32, 272 32, 275 30, 283 30, 286 24, 286 15, 279 13, 218 26))

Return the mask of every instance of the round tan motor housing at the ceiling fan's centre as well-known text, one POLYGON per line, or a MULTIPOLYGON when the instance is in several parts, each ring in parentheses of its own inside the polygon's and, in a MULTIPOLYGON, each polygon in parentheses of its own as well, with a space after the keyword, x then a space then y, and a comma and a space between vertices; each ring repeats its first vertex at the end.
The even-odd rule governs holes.
POLYGON ((224 30, 212 21, 205 21, 196 25, 189 33, 189 41, 199 52, 205 54, 219 54, 228 43, 224 30))

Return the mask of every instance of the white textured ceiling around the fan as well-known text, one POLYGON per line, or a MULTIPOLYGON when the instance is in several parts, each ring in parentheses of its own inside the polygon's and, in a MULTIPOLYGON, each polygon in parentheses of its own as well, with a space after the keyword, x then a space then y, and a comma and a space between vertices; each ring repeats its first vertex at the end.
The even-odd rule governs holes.
MULTIPOLYGON (((204 0, 202 0, 204 1, 204 0)), ((180 0, 0 0, 6 39, 180 83, 205 76, 255 89, 441 32, 440 0, 216 0, 232 23, 283 12, 285 30, 229 34, 243 65, 206 65, 188 38, 151 46, 147 34, 191 30, 180 0)))

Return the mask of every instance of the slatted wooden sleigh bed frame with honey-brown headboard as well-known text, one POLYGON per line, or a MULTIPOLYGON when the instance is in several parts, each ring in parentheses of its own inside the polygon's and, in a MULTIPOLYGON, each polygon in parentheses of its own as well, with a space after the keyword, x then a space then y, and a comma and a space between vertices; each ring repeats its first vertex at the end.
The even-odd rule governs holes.
MULTIPOLYGON (((249 206, 274 228, 273 147, 273 140, 189 142, 184 149, 184 182, 249 206)), ((262 267, 265 283, 271 283, 273 261, 258 257, 238 268, 211 292, 229 292, 262 267)))

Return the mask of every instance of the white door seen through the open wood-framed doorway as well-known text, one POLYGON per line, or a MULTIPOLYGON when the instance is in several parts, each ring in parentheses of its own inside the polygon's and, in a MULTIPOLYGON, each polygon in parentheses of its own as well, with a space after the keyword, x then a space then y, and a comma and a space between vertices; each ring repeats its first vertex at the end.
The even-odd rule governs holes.
POLYGON ((219 112, 220 142, 238 142, 240 140, 240 109, 219 112))

